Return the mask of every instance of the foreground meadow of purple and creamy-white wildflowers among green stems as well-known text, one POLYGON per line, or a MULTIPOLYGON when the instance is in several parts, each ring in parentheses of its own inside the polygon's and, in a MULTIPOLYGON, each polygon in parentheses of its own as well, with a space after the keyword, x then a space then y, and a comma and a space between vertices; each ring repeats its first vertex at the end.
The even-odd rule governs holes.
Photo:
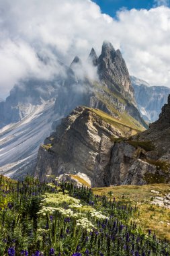
POLYGON ((131 203, 71 183, 0 177, 1 256, 170 255, 167 241, 130 222, 131 203))

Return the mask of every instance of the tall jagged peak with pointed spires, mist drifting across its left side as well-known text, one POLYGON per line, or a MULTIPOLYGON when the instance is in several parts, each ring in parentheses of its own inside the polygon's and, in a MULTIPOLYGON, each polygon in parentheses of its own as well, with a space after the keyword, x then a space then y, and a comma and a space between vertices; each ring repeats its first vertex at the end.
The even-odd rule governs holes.
POLYGON ((120 113, 126 111, 147 127, 136 108, 130 75, 120 51, 115 51, 112 44, 105 41, 99 58, 91 49, 87 64, 91 65, 91 71, 96 72, 96 81, 91 81, 87 73, 82 76, 83 62, 75 57, 71 63, 71 69, 75 72, 74 82, 69 85, 65 83, 59 89, 56 113, 69 115, 79 105, 99 108, 112 116, 116 115, 117 110, 120 113))

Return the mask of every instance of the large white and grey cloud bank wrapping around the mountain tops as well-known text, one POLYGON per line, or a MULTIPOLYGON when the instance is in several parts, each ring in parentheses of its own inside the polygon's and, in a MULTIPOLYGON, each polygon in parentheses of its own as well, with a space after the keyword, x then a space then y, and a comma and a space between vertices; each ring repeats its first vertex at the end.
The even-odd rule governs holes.
POLYGON ((121 10, 114 20, 90 0, 1 0, 0 97, 19 79, 62 72, 57 60, 86 60, 92 46, 99 55, 103 40, 122 51, 130 74, 170 86, 169 18, 165 6, 121 10))

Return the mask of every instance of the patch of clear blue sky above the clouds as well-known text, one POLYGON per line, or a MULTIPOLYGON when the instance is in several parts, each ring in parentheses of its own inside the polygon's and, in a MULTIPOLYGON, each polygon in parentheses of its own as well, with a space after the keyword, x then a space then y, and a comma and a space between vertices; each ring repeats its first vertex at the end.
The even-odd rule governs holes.
POLYGON ((169 0, 93 0, 101 7, 103 13, 115 17, 116 11, 126 9, 151 9, 160 5, 169 5, 169 0))

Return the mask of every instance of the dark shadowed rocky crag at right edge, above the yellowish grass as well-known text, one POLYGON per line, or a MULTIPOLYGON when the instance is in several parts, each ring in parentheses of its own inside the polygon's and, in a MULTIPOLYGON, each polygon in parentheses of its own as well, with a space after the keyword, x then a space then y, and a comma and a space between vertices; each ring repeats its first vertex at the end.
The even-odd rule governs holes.
POLYGON ((122 139, 112 148, 112 183, 146 184, 170 182, 170 95, 159 120, 148 130, 122 139))

